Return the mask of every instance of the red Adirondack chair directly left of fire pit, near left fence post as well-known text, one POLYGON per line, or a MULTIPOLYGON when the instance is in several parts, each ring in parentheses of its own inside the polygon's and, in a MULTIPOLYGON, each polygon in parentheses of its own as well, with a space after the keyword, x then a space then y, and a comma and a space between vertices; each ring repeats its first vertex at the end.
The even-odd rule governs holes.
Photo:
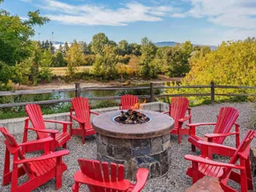
POLYGON ((88 98, 77 97, 73 98, 71 102, 73 107, 70 109, 70 122, 74 119, 74 121, 78 122, 79 127, 71 127, 70 134, 81 135, 82 144, 84 144, 87 135, 96 134, 96 131, 90 123, 90 114, 99 114, 90 110, 88 98), (75 116, 73 115, 73 111, 75 116))

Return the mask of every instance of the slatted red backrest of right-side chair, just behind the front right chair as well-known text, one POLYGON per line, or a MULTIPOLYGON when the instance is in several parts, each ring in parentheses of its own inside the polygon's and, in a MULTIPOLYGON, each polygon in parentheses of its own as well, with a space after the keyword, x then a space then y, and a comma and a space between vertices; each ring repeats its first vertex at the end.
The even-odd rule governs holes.
MULTIPOLYGON (((238 119, 239 111, 233 107, 222 107, 218 114, 218 120, 214 128, 214 134, 225 134, 230 132, 232 126, 238 119)), ((213 142, 222 144, 225 137, 214 138, 213 142)))

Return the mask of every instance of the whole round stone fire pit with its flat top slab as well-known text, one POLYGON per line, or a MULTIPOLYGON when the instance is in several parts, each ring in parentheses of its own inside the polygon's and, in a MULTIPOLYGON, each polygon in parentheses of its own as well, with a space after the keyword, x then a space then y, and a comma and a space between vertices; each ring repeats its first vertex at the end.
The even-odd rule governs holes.
POLYGON ((122 124, 114 118, 120 110, 100 114, 93 119, 97 131, 97 158, 126 167, 126 178, 135 180, 136 170, 146 167, 150 178, 170 170, 170 130, 174 120, 166 114, 142 110, 150 118, 142 124, 122 124))

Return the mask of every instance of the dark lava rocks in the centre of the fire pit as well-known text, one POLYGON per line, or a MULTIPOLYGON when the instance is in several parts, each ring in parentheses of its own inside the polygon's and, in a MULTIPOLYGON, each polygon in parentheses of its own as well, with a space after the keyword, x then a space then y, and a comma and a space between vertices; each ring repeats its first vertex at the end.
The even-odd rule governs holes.
POLYGON ((144 122, 149 122, 150 118, 148 118, 145 114, 142 114, 140 111, 136 110, 127 110, 121 111, 121 115, 114 118, 115 122, 121 122, 123 124, 140 124, 144 122))

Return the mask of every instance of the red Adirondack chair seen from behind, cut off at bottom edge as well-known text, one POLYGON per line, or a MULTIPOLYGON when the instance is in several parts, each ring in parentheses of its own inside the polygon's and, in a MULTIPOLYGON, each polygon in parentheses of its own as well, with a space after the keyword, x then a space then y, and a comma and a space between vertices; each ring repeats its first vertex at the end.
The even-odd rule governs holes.
POLYGON ((78 192, 81 184, 86 184, 90 191, 141 191, 146 184, 149 170, 139 168, 136 174, 137 182, 131 183, 124 179, 124 166, 113 162, 98 162, 96 160, 78 159, 80 170, 74 174, 72 190, 78 192), (102 164, 102 166, 101 166, 102 164), (110 173, 109 173, 110 170, 110 173))

